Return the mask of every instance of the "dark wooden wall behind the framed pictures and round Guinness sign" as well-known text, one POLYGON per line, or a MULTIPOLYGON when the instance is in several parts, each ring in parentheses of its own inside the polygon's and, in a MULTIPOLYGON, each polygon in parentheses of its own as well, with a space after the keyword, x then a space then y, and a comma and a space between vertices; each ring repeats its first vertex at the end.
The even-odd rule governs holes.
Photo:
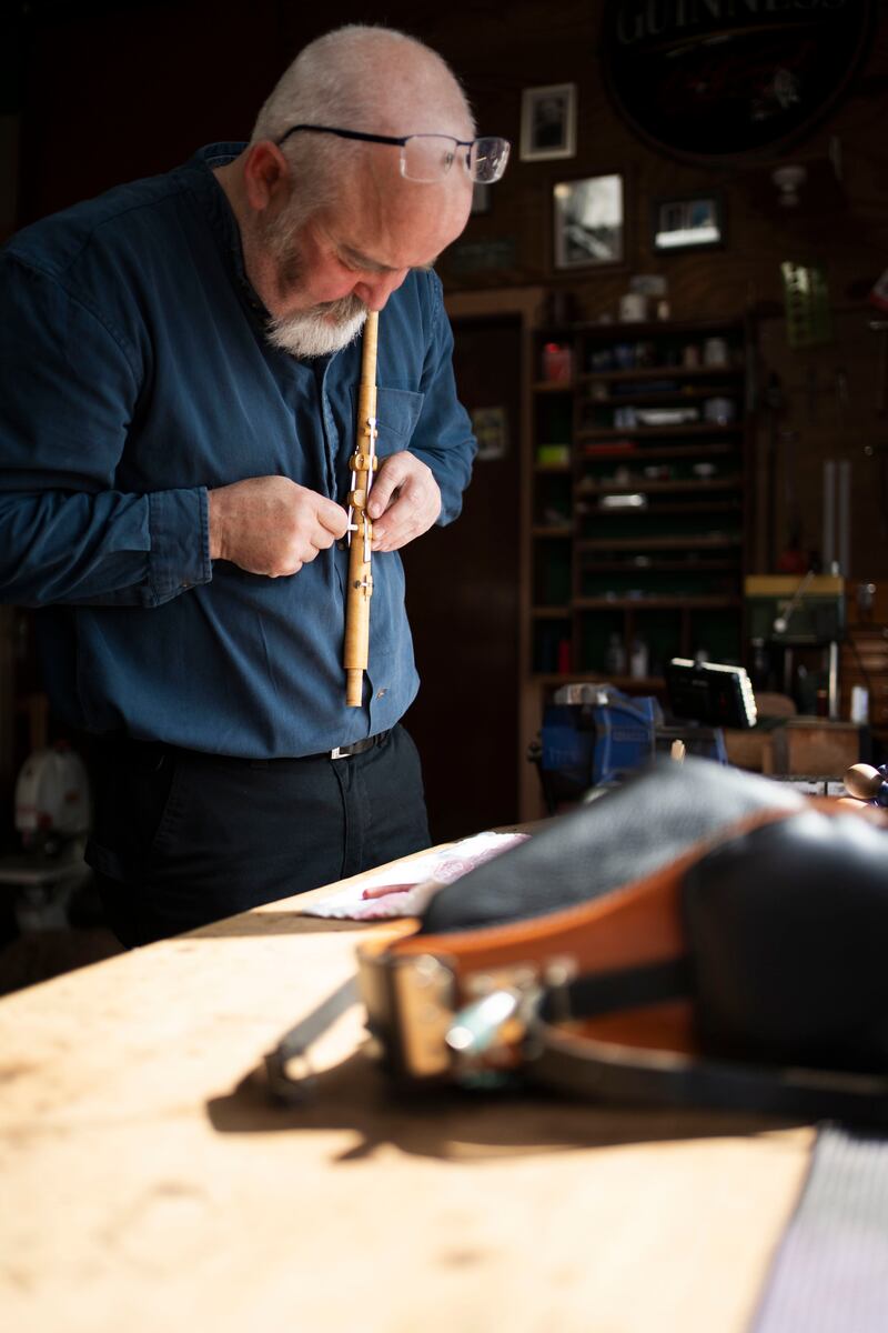
MULTIPOLYGON (((493 7, 473 7, 474 40, 466 24, 442 23, 431 40, 447 51, 475 97, 482 129, 509 135, 515 156, 493 191, 493 207, 470 220, 467 245, 507 240, 509 269, 466 275, 445 257, 453 289, 549 284, 570 292, 580 319, 614 317, 634 273, 659 273, 668 283, 675 319, 748 313, 760 345, 756 397, 755 565, 785 545, 787 509, 797 504, 807 548, 821 547, 827 460, 851 463, 853 580, 888 579, 888 333, 869 328, 877 312, 867 296, 888 268, 888 13, 844 100, 816 131, 791 149, 743 165, 698 167, 651 149, 619 117, 599 64, 602 3, 522 4, 509 20, 493 7), (503 59, 505 56, 505 59, 503 59), (521 161, 517 152, 521 93, 526 87, 578 85, 576 156, 553 163, 521 161), (775 167, 805 165, 808 180, 797 209, 777 203, 775 167), (556 181, 620 172, 627 192, 626 263, 611 269, 571 271, 553 264, 553 187, 556 181), (651 208, 656 199, 722 192, 727 244, 698 255, 656 256, 651 208), (816 349, 793 351, 787 339, 780 265, 824 265, 833 337, 816 349), (774 417, 762 391, 771 373, 784 396, 774 417), (774 533, 766 531, 768 455, 776 481, 774 533), (787 469, 797 472, 795 489, 787 469)), ((458 247, 451 256, 458 260, 458 247)))

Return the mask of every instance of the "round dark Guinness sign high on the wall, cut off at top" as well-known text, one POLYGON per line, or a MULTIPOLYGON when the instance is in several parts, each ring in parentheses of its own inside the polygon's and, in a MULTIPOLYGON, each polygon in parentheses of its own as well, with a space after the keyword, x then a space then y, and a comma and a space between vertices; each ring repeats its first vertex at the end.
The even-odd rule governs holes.
POLYGON ((873 0, 604 0, 602 71, 655 147, 718 163, 779 149, 847 88, 873 0))

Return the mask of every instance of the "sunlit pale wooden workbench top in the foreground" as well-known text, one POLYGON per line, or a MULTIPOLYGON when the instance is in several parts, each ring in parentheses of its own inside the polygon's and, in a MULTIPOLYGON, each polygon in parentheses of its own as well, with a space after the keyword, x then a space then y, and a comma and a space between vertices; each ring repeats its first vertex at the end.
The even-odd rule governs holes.
POLYGON ((385 929, 304 901, 0 1001, 4 1329, 748 1328, 812 1128, 398 1098, 358 1005, 316 1052, 314 1100, 276 1105, 265 1053, 385 929))

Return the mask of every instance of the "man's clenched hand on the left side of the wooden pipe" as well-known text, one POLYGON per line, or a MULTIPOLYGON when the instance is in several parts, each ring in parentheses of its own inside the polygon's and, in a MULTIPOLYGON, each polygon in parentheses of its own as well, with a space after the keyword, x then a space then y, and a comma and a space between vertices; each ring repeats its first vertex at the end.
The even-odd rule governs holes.
POLYGON ((289 477, 248 477, 209 492, 210 560, 252 575, 294 575, 343 537, 345 509, 289 477))

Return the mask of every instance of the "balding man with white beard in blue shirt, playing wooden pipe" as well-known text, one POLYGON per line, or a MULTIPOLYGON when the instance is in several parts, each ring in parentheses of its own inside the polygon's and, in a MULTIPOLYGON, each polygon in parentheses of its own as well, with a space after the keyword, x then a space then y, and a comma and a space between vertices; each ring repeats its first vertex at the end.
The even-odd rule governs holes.
POLYGON ((95 737, 88 858, 125 944, 427 845, 398 549, 457 517, 474 440, 435 257, 474 180, 453 73, 349 27, 252 140, 13 237, 0 284, 0 587, 95 737), (342 669, 359 333, 379 320, 363 704, 342 669))

